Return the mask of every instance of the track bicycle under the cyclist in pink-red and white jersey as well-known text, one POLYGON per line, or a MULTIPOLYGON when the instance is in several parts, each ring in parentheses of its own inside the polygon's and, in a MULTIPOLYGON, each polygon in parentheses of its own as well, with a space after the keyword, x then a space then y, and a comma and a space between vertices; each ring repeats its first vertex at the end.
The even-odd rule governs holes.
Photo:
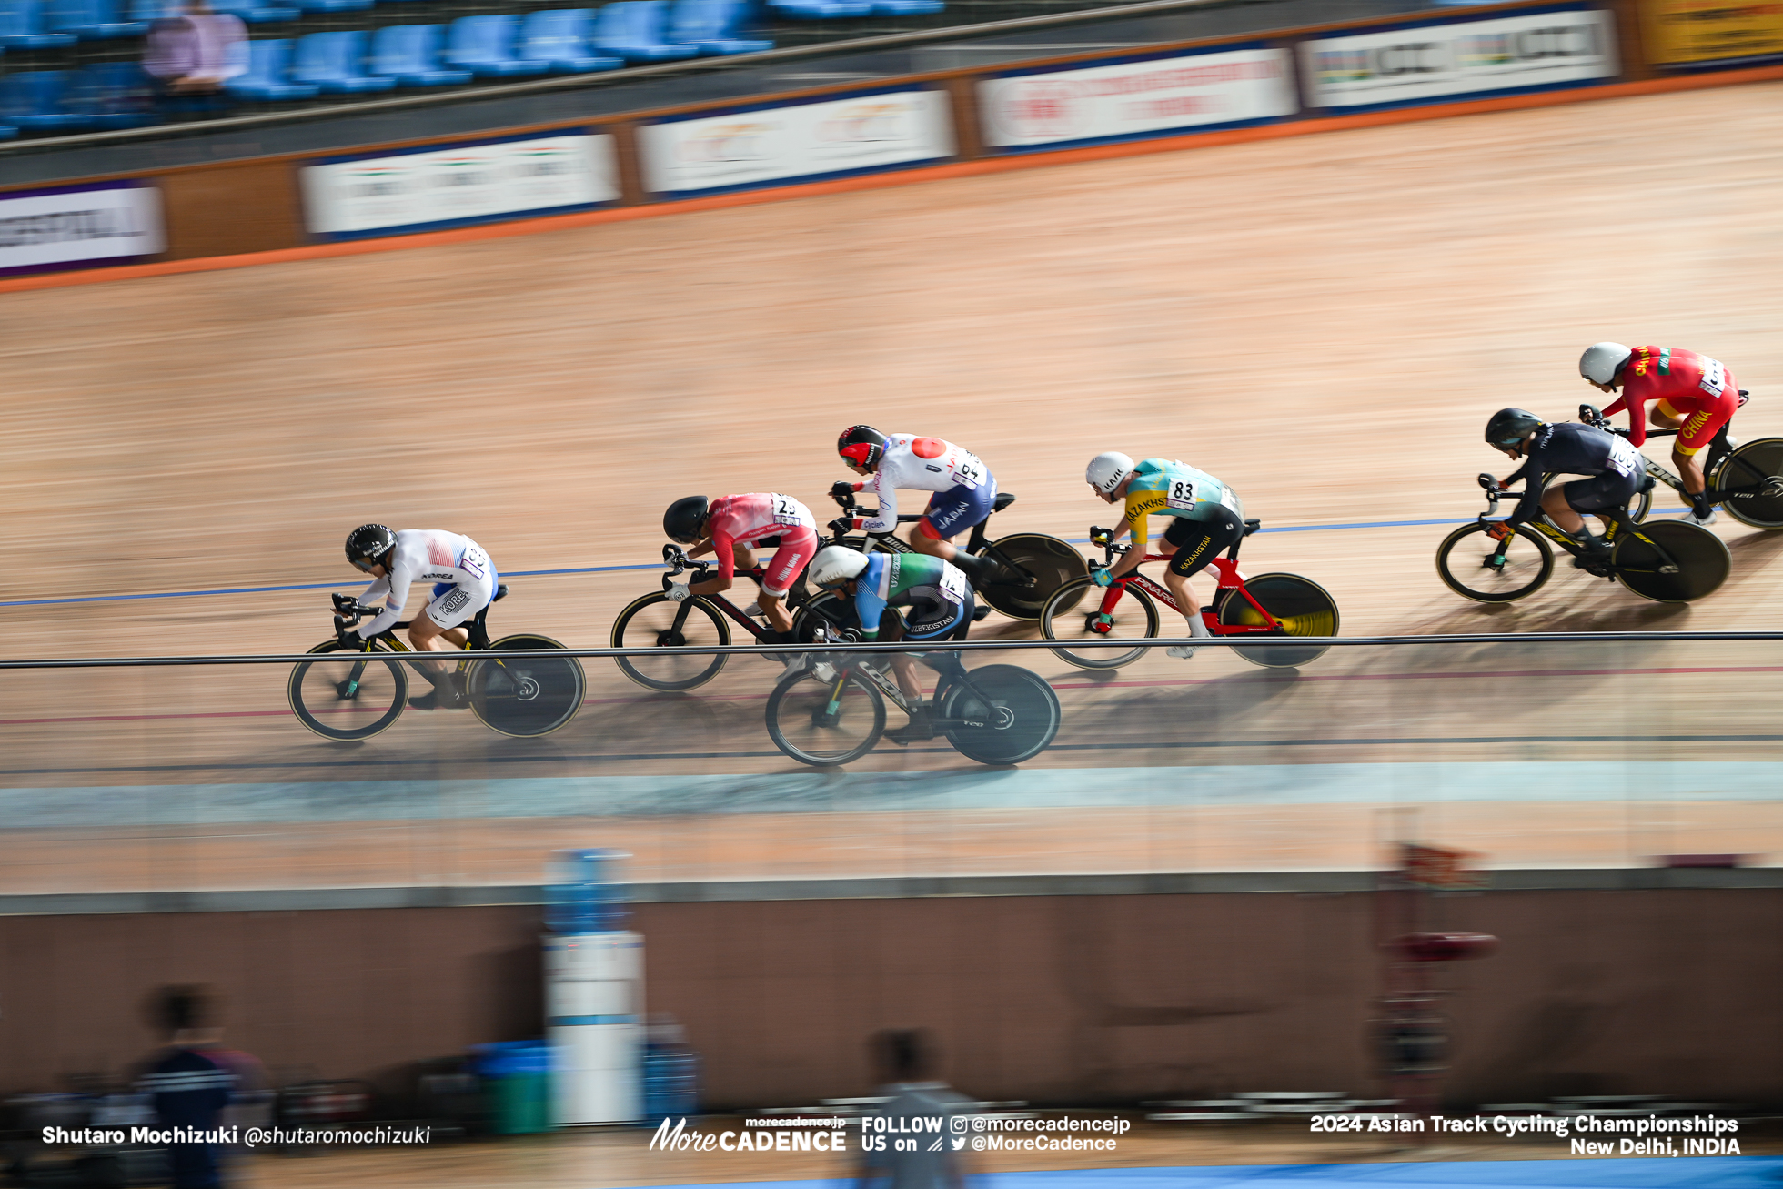
MULTIPOLYGON (((726 599, 722 592, 688 595, 679 603, 665 594, 669 581, 686 570, 694 572, 694 578, 688 581, 704 581, 706 572, 713 567, 711 562, 695 562, 686 556, 681 545, 667 544, 663 545, 663 565, 669 567, 661 576, 663 588, 638 595, 613 620, 615 649, 661 651, 647 656, 615 656, 613 660, 619 663, 622 674, 647 690, 692 690, 717 677, 729 658, 724 652, 688 652, 686 649, 710 649, 729 644, 731 624, 742 627, 758 644, 774 644, 768 640, 772 627, 751 619, 740 606, 726 599)), ((736 576, 749 578, 760 586, 767 576, 767 567, 740 569, 736 576)), ((793 613, 793 638, 801 644, 811 640, 811 620, 806 611, 808 603, 804 574, 799 574, 799 579, 786 592, 786 606, 793 613)), ((777 658, 768 656, 767 660, 777 658)))

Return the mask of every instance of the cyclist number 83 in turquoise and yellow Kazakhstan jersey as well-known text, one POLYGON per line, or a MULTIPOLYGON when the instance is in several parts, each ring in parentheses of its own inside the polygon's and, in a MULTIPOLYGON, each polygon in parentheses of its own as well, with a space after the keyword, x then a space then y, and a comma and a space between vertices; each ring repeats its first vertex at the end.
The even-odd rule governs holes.
MULTIPOLYGON (((1189 578, 1212 562, 1221 549, 1228 549, 1245 537, 1245 503, 1230 487, 1196 471, 1186 462, 1164 458, 1146 458, 1134 462, 1127 455, 1109 451, 1089 460, 1084 480, 1095 488, 1102 503, 1127 501, 1125 524, 1114 533, 1132 537, 1132 549, 1114 563, 1113 569, 1093 570, 1098 586, 1111 585, 1139 569, 1145 560, 1145 545, 1150 540, 1146 517, 1154 512, 1171 517, 1164 529, 1164 544, 1173 545, 1177 554, 1164 570, 1164 585, 1189 620, 1191 636, 1212 636, 1207 624, 1196 613, 1200 603, 1189 590, 1189 578)), ((1184 660, 1195 656, 1193 645, 1179 644, 1166 649, 1170 656, 1184 660)))

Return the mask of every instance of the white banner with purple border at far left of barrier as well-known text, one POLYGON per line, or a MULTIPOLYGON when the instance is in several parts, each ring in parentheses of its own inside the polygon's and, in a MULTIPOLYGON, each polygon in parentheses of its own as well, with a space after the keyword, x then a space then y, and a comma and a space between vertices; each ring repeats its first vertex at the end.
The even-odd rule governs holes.
POLYGON ((166 248, 160 191, 148 182, 0 194, 0 276, 130 264, 166 248))

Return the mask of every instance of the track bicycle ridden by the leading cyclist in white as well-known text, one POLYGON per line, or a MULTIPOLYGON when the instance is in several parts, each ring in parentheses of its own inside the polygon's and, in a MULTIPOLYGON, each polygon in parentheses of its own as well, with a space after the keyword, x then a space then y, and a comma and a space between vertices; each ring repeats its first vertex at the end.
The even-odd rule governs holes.
MULTIPOLYGON (((489 608, 505 599, 506 585, 496 586, 476 619, 465 624, 469 642, 465 652, 492 652, 492 656, 462 656, 456 672, 464 674, 471 711, 489 727, 515 738, 551 734, 569 722, 587 690, 581 663, 572 656, 515 656, 506 649, 562 649, 549 636, 533 633, 489 638, 489 608)), ((408 706, 410 661, 389 660, 392 652, 428 656, 446 663, 448 652, 415 652, 396 631, 412 620, 392 624, 353 649, 341 642, 341 633, 357 627, 367 615, 383 608, 366 606, 355 595, 332 595, 335 610, 335 638, 317 644, 310 652, 333 654, 328 660, 301 661, 291 670, 291 709, 298 722, 328 740, 369 740, 385 731, 408 706)))

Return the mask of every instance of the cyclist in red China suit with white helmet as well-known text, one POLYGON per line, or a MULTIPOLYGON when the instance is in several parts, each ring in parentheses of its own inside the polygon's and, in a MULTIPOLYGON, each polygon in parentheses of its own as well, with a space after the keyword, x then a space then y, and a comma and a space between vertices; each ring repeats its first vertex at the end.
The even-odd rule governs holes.
POLYGON ((1740 385, 1733 373, 1696 351, 1596 342, 1578 358, 1578 374, 1599 392, 1621 390, 1603 415, 1626 408, 1628 440, 1633 446, 1647 440, 1647 417, 1660 430, 1678 430, 1672 439, 1672 465, 1678 467, 1683 488, 1690 492, 1687 519, 1692 524, 1712 524, 1715 508, 1705 499, 1708 483, 1697 455, 1740 406, 1740 385), (1646 412, 1647 401, 1655 401, 1651 414, 1646 412))

